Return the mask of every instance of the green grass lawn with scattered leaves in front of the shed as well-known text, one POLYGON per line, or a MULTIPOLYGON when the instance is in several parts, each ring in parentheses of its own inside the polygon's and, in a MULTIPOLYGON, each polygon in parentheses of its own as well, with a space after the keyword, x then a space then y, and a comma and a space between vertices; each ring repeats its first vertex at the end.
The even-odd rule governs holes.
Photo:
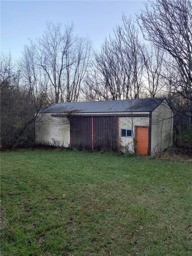
POLYGON ((191 183, 187 162, 2 152, 1 255, 191 256, 191 183))

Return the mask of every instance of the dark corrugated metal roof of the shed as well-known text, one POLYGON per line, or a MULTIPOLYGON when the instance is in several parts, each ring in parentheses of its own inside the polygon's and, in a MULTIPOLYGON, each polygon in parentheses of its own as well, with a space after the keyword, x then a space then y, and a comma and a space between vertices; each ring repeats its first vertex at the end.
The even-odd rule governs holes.
POLYGON ((110 113, 110 112, 147 112, 153 111, 165 98, 148 98, 132 100, 108 100, 57 103, 47 107, 43 113, 110 113))

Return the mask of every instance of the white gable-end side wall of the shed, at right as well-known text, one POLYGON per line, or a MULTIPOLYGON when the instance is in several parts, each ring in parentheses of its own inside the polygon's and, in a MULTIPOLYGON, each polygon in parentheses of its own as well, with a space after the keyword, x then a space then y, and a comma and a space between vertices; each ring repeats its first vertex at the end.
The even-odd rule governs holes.
POLYGON ((151 154, 158 153, 172 145, 173 113, 166 101, 152 112, 151 154))

